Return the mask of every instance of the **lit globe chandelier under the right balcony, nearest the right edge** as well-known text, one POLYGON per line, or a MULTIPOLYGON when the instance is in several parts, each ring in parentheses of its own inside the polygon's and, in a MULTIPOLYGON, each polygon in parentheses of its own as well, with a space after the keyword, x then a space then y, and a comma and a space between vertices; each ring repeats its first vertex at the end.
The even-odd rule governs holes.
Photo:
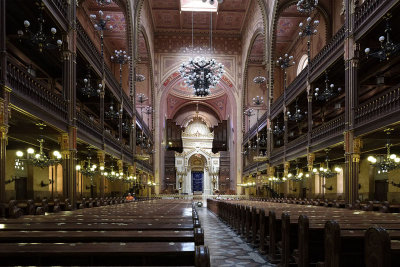
POLYGON ((378 168, 378 173, 387 173, 391 170, 397 169, 400 167, 400 157, 396 154, 390 154, 390 147, 392 146, 390 143, 389 135, 393 129, 386 129, 385 132, 388 136, 386 142, 386 155, 379 156, 369 156, 368 161, 372 166, 378 168))

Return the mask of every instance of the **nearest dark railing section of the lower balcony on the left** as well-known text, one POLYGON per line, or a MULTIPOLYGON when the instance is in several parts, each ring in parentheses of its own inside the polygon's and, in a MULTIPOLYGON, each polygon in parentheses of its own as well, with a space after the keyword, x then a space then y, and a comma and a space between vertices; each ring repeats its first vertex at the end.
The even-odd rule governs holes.
POLYGON ((13 93, 39 105, 42 109, 62 120, 67 119, 67 101, 62 96, 49 91, 48 85, 30 75, 14 58, 7 58, 7 80, 13 93))

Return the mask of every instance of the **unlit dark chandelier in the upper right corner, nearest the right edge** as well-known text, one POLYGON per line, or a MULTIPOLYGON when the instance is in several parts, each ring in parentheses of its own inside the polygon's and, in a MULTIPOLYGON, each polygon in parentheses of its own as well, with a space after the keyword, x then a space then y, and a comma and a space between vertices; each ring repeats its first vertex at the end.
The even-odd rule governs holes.
POLYGON ((381 48, 378 51, 372 52, 370 48, 365 48, 365 54, 367 55, 367 58, 369 55, 372 57, 378 58, 380 61, 384 60, 389 60, 391 56, 396 55, 400 51, 400 44, 395 44, 393 41, 390 39, 390 32, 392 31, 392 28, 390 27, 389 20, 391 18, 390 14, 386 15, 386 27, 385 27, 385 34, 379 37, 379 42, 381 44, 381 48), (386 40, 386 42, 385 42, 386 40))

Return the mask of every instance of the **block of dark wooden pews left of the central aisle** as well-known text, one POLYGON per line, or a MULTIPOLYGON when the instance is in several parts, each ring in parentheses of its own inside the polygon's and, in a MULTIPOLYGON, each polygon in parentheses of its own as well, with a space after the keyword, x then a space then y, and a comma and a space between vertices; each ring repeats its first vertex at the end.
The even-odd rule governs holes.
POLYGON ((122 202, 0 219, 0 265, 210 266, 191 201, 122 202))

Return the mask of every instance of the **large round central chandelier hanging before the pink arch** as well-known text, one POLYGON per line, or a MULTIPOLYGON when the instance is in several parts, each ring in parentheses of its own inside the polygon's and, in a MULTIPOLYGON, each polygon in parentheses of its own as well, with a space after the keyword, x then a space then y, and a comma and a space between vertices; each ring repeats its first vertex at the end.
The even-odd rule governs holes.
POLYGON ((179 72, 185 83, 193 88, 195 96, 208 96, 224 74, 224 65, 215 59, 190 58, 182 63, 179 72))

